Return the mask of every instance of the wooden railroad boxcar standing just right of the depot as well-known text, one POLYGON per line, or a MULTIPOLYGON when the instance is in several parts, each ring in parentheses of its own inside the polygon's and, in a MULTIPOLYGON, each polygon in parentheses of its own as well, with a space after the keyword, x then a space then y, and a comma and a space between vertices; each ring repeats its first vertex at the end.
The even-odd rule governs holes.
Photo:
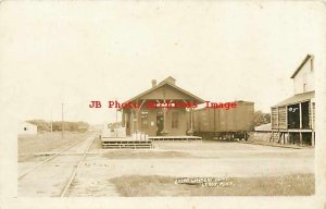
POLYGON ((244 139, 253 131, 254 103, 236 101, 234 109, 203 108, 193 111, 193 134, 205 139, 244 139))

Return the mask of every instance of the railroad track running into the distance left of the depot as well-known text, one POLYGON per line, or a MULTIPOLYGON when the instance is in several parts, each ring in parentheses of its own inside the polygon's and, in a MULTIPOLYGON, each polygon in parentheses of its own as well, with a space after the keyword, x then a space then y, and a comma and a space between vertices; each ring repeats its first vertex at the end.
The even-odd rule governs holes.
MULTIPOLYGON (((96 136, 88 137, 88 138, 84 139, 84 140, 77 142, 77 143, 75 143, 75 144, 73 144, 73 145, 71 145, 71 146, 62 149, 61 151, 59 151, 59 152, 50 156, 46 160, 41 161, 40 163, 34 165, 33 168, 30 168, 26 172, 24 172, 21 175, 18 175, 18 177, 17 177, 18 181, 22 182, 22 184, 25 184, 25 185, 26 185, 26 183, 27 183, 27 185, 29 184, 29 188, 27 188, 27 190, 32 189, 33 193, 43 194, 43 193, 47 193, 45 190, 47 190, 48 188, 50 188, 49 192, 52 194, 52 196, 54 195, 54 196, 60 196, 60 197, 66 197, 68 188, 71 187, 71 185, 72 185, 72 183, 73 183, 73 181, 74 181, 74 179, 75 179, 75 176, 77 174, 78 169, 80 168, 80 165, 82 165, 85 157, 87 156, 87 152, 88 152, 89 148, 91 147, 91 145, 93 144, 93 142, 95 142, 96 138, 97 138, 96 136), (85 144, 82 144, 83 142, 85 142, 85 144), (75 162, 71 162, 72 159, 70 158, 70 156, 62 156, 63 152, 68 151, 71 149, 75 149, 75 147, 77 145, 82 146, 82 148, 77 147, 77 151, 76 151, 78 155, 82 155, 82 157, 79 159, 77 159, 75 162), (79 149, 83 150, 83 151, 80 151, 79 149), (59 158, 59 157, 61 157, 61 158, 59 158), (70 176, 68 181, 64 181, 64 179, 63 179, 63 181, 60 182, 60 185, 62 185, 62 182, 64 182, 63 183, 64 186, 60 186, 58 184, 54 184, 57 180, 55 180, 55 176, 53 177, 53 173, 55 171, 52 172, 53 169, 51 170, 51 168, 53 168, 53 163, 58 164, 58 162, 54 162, 54 161, 58 161, 57 159, 58 160, 64 160, 64 161, 68 160, 68 162, 64 162, 64 163, 67 164, 67 167, 63 167, 62 168, 63 169, 62 173, 65 173, 62 176, 65 176, 65 175, 70 176), (49 164, 49 165, 47 165, 47 164, 49 164), (43 169, 41 169, 41 168, 43 168, 43 169), (71 169, 73 169, 73 170, 71 171, 71 169), (68 174, 68 173, 72 173, 72 174, 68 174), (41 175, 41 177, 40 177, 40 175, 41 175), (50 187, 49 187, 49 185, 42 185, 42 184, 39 183, 39 182, 42 182, 45 180, 48 181, 48 182, 52 181, 54 183, 51 182, 50 183, 50 187), (30 186, 30 185, 36 185, 36 186, 30 186), (61 188, 59 188, 59 189, 61 192, 59 192, 58 187, 57 187, 55 189, 58 192, 55 192, 53 194, 53 190, 51 189, 53 187, 52 185, 60 186, 61 188), (38 188, 37 188, 37 186, 38 186, 38 188)), ((78 156, 74 157, 74 158, 78 158, 78 156)), ((61 170, 60 170, 61 167, 58 167, 57 169, 58 169, 57 172, 58 171, 61 172, 61 170)), ((26 188, 24 188, 24 186, 22 188, 26 189, 26 188)), ((30 194, 30 193, 28 193, 28 194, 30 194)))

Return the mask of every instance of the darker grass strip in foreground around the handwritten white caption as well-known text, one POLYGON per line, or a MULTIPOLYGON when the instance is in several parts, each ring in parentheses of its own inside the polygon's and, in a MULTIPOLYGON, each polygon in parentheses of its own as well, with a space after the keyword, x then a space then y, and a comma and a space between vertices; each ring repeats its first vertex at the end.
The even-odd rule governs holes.
POLYGON ((229 187, 203 187, 175 184, 175 177, 161 175, 124 175, 111 179, 125 197, 143 196, 308 196, 314 195, 314 174, 284 176, 229 177, 229 187))

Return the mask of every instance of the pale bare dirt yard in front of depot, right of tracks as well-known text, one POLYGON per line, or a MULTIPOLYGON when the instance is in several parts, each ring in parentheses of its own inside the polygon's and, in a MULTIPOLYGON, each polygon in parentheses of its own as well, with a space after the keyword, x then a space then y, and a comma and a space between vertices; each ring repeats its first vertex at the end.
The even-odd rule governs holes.
MULTIPOLYGON (((49 146, 48 150, 55 149, 49 146)), ((23 149, 21 151, 26 152, 23 149)), ((30 153, 37 151, 29 150, 30 153)), ((76 157, 71 151, 65 155, 65 158, 73 159, 73 156, 76 157)), ((67 161, 64 160, 64 162, 67 161)), ((18 168, 26 169, 33 163, 36 162, 20 161, 18 168)), ((58 163, 60 165, 60 162, 58 163)), ((62 165, 63 169, 65 167, 62 165)), ((108 150, 101 148, 101 142, 97 138, 77 172, 68 196, 121 196, 123 194, 112 182, 113 179, 121 176, 139 176, 140 179, 143 176, 142 180, 146 180, 146 176, 156 175, 170 179, 228 176, 267 180, 274 176, 298 174, 312 174, 313 176, 313 148, 291 149, 222 142, 163 142, 154 143, 154 148, 150 150, 108 150)), ((146 181, 138 183, 148 184, 146 181)), ((23 190, 21 193, 23 196, 29 196, 28 194, 38 196, 35 192, 24 189, 23 184, 18 186, 23 190)), ((29 184, 29 188, 33 188, 33 185, 29 184)), ((168 194, 168 190, 165 193, 168 194)), ((171 195, 175 193, 172 192, 171 195)), ((299 192, 294 190, 291 194, 299 194, 299 192)), ((41 195, 51 196, 51 193, 43 192, 41 195)))

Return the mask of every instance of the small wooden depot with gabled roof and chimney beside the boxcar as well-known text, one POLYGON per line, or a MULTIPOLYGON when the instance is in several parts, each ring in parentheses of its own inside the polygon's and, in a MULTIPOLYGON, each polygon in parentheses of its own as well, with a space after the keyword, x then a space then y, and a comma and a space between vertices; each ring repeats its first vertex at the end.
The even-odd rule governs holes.
POLYGON ((166 103, 203 103, 204 100, 176 86, 173 77, 161 83, 152 81, 152 87, 124 103, 134 103, 133 108, 122 108, 122 124, 127 135, 145 133, 149 136, 192 135, 192 123, 187 125, 186 112, 193 108, 167 108, 166 103), (150 108, 155 103, 159 108, 150 108), (135 106, 138 104, 138 107, 135 106))

